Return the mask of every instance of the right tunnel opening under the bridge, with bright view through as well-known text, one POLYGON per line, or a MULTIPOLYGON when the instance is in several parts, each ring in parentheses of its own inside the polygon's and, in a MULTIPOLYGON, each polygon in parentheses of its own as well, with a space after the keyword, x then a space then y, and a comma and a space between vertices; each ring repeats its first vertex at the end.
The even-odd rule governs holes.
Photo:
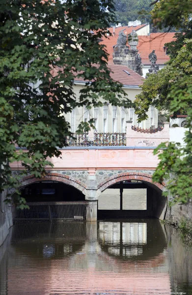
POLYGON ((98 219, 164 219, 166 198, 155 184, 142 180, 124 180, 105 189, 98 200, 98 219))

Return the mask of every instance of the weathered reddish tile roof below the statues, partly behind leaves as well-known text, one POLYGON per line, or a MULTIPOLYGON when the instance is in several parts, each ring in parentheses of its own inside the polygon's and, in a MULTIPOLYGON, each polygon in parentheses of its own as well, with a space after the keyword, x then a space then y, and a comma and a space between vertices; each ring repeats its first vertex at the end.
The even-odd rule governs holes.
MULTIPOLYGON (((93 66, 98 66, 98 65, 93 65, 93 66)), ((119 65, 119 64, 114 64, 114 63, 109 63, 108 68, 110 69, 110 77, 119 83, 122 83, 124 86, 128 87, 139 87, 140 85, 143 84, 144 78, 140 75, 138 75, 136 72, 131 70, 125 65, 119 65), (127 71, 127 72, 125 72, 127 71), (130 74, 130 75, 129 75, 130 74)), ((52 70, 52 76, 55 77, 57 75, 58 70, 60 68, 55 67, 52 70)), ((63 67, 64 70, 64 67, 63 67)), ((81 73, 81 72, 80 72, 81 73)), ((78 73, 74 73, 74 76, 76 76, 78 73)), ((74 78, 75 82, 88 82, 88 80, 83 80, 82 78, 74 78)))

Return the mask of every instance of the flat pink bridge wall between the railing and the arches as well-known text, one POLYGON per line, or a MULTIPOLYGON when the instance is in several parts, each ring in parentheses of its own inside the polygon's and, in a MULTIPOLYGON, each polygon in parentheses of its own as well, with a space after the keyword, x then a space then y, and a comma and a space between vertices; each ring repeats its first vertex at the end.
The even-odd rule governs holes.
MULTIPOLYGON (((136 131, 134 131, 137 134, 136 131)), ((54 168, 48 170, 99 170, 99 169, 155 169, 159 163, 153 155, 154 147, 69 147, 61 150, 61 158, 50 160, 54 168)), ((21 163, 10 164, 13 170, 22 169, 21 163)))

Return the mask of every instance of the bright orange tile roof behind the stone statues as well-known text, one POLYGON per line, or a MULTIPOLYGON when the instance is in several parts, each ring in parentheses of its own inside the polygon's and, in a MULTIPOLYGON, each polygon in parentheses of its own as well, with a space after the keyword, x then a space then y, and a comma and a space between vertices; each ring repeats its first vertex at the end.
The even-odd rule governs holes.
MULTIPOLYGON (((131 27, 133 28, 133 27, 131 27)), ((138 36, 137 49, 142 59, 143 64, 150 64, 149 54, 152 50, 155 50, 157 55, 157 64, 164 64, 169 60, 169 56, 166 55, 164 46, 165 43, 173 41, 175 33, 151 33, 148 36, 138 36)), ((113 46, 117 44, 118 35, 109 36, 103 39, 101 44, 106 45, 107 52, 109 53, 109 62, 112 62, 113 46)))

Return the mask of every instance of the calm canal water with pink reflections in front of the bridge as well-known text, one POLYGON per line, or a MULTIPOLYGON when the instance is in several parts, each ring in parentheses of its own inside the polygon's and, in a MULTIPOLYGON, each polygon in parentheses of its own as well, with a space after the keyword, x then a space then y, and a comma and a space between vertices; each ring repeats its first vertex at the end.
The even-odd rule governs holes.
POLYGON ((156 219, 15 225, 0 295, 191 295, 192 248, 156 219))

